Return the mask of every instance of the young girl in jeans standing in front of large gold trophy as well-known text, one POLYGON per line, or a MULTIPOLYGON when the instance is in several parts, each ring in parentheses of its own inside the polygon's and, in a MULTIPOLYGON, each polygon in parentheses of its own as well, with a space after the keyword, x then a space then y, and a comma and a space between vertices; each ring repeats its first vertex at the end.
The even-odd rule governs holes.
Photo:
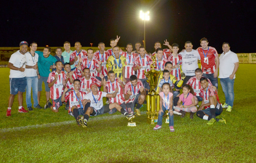
POLYGON ((171 87, 169 83, 164 83, 162 85, 162 91, 159 93, 160 95, 160 110, 158 112, 158 121, 154 130, 160 129, 162 127, 162 120, 164 111, 168 110, 169 112, 169 128, 171 132, 174 132, 173 128, 173 111, 172 111, 172 93, 170 92, 171 87))

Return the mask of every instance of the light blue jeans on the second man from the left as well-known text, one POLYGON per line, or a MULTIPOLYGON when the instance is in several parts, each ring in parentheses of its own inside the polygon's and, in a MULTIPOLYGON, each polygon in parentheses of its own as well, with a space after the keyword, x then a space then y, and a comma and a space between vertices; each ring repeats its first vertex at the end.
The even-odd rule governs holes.
POLYGON ((32 106, 32 103, 31 103, 31 87, 32 87, 32 91, 33 91, 34 107, 36 107, 38 105, 38 101, 37 101, 38 78, 37 78, 37 76, 34 76, 34 77, 26 77, 26 79, 27 79, 27 87, 26 87, 27 107, 32 106))

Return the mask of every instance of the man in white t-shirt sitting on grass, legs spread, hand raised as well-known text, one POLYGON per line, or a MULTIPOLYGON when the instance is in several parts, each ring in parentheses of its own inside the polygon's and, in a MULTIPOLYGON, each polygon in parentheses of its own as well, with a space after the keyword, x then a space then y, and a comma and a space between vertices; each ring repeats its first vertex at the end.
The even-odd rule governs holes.
MULTIPOLYGON (((116 97, 116 94, 119 91, 118 87, 116 87, 115 92, 112 94, 98 91, 98 87, 97 87, 96 83, 91 83, 90 88, 92 91, 90 93, 86 94, 84 97, 85 99, 89 99, 91 102, 90 102, 90 107, 88 107, 84 117, 82 117, 83 127, 87 126, 87 121, 88 121, 90 115, 96 116, 96 115, 108 113, 111 109, 114 109, 114 108, 116 108, 118 111, 120 111, 127 118, 132 116, 132 114, 128 114, 120 105, 118 105, 117 102, 110 103, 110 104, 103 106, 102 98, 103 97, 108 97, 108 98, 116 97)), ((86 105, 87 105, 87 103, 86 103, 86 105)))

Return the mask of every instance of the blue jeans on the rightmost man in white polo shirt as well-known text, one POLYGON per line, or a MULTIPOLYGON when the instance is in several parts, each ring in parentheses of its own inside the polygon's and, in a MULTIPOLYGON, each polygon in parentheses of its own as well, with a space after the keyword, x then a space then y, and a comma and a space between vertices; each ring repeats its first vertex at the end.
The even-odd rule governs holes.
POLYGON ((225 94, 225 98, 226 98, 226 104, 230 105, 231 107, 233 107, 233 103, 234 103, 234 81, 235 79, 230 79, 228 78, 220 78, 220 84, 222 86, 222 90, 225 94))

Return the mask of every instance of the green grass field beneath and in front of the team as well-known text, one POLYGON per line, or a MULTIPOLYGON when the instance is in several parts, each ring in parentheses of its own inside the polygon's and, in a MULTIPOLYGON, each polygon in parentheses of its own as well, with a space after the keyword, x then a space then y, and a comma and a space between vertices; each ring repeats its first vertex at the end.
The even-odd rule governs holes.
MULTIPOLYGON (((17 97, 12 116, 6 117, 9 69, 0 68, 0 162, 256 162, 255 70, 255 64, 240 64, 233 110, 219 116, 226 125, 207 125, 187 113, 184 118, 174 115, 171 133, 168 124, 154 131, 154 125, 146 123, 145 105, 134 120, 136 127, 127 127, 120 113, 91 117, 87 128, 79 127, 64 106, 59 113, 50 109, 18 113, 17 97)), ((219 97, 224 103, 220 82, 219 97)), ((40 104, 45 102, 42 93, 40 104)), ((23 103, 26 106, 25 98, 23 103)))

